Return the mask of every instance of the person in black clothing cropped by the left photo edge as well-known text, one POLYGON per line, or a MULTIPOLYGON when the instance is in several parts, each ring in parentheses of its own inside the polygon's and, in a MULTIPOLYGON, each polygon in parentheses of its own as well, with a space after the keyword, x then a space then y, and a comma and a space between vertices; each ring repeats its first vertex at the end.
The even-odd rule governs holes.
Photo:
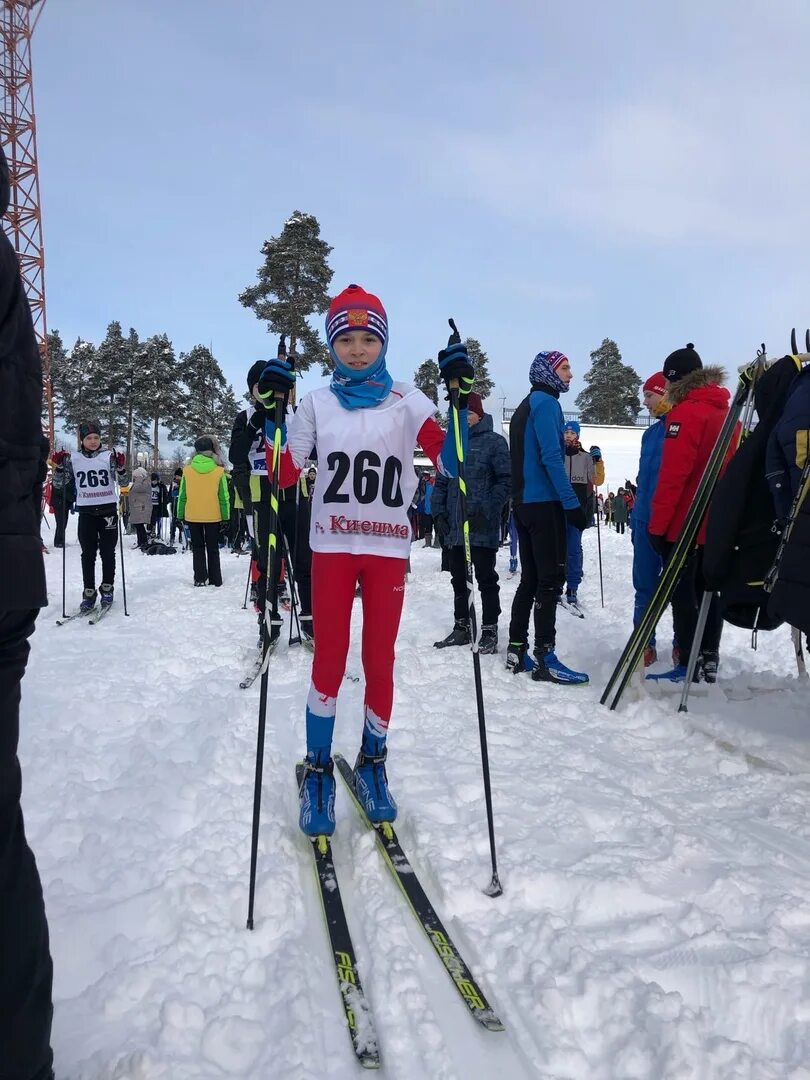
MULTIPOLYGON (((9 206, 0 151, 0 214, 9 206)), ((53 967, 37 864, 25 838, 17 759, 28 638, 48 604, 40 540, 48 441, 42 368, 17 257, 0 234, 0 1075, 52 1080, 53 967)))

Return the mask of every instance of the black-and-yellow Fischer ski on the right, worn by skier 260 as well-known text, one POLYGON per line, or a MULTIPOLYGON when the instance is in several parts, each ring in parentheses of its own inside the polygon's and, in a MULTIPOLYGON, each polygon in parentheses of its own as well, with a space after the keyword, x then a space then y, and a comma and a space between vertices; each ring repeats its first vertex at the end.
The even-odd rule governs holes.
POLYGON ((419 879, 414 872, 414 867, 408 862, 408 858, 402 850, 402 846, 396 838, 393 826, 390 822, 382 822, 377 825, 366 818, 365 811, 357 799, 354 791, 354 773, 351 766, 342 754, 334 754, 335 766, 341 779, 349 788, 352 801, 357 809, 363 821, 377 834, 382 856, 396 879, 396 883, 402 889, 408 906, 416 916, 419 926, 424 931, 428 941, 438 956, 438 959, 447 970, 447 974, 453 980, 461 998, 470 1010, 471 1015, 488 1031, 502 1031, 503 1024, 500 1022, 491 1005, 484 997, 478 984, 475 982, 473 973, 461 958, 461 954, 454 945, 450 935, 442 924, 435 908, 428 899, 424 889, 419 883, 419 879))

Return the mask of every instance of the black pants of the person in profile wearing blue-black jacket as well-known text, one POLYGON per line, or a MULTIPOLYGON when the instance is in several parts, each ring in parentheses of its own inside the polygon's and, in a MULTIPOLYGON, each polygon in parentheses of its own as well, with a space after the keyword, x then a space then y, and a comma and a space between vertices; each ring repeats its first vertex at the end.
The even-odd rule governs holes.
POLYGON ((566 568, 566 521, 559 502, 524 502, 514 508, 521 583, 512 600, 510 642, 528 642, 529 612, 535 608, 535 651, 556 643, 557 599, 566 568))

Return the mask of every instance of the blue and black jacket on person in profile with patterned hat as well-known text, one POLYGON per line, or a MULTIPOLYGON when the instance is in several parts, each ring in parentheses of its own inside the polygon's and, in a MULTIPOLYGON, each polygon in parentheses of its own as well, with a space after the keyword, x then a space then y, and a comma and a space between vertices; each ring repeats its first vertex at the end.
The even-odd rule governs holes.
POLYGON ((562 502, 575 510, 580 502, 566 474, 563 409, 556 391, 532 388, 512 416, 512 501, 562 502))

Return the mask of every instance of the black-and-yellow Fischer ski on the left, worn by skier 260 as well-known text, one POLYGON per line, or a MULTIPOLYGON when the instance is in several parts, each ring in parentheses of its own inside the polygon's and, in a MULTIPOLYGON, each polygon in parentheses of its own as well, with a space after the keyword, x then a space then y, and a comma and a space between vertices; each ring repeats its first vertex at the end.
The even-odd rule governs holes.
MULTIPOLYGON (((295 779, 298 789, 303 783, 303 765, 295 768, 295 779)), ((357 974, 357 963, 354 958, 354 946, 349 934, 349 924, 346 921, 343 903, 340 899, 340 888, 338 886, 335 863, 332 859, 332 845, 328 836, 314 836, 311 843, 312 855, 315 861, 315 875, 321 894, 324 919, 326 921, 326 932, 329 935, 329 947, 335 962, 335 974, 337 975, 340 997, 343 1002, 346 1023, 349 1025, 354 1053, 357 1061, 366 1069, 378 1069, 380 1067, 380 1054, 377 1045, 377 1034, 374 1028, 374 1020, 368 1005, 368 1000, 363 991, 363 986, 357 974)))

